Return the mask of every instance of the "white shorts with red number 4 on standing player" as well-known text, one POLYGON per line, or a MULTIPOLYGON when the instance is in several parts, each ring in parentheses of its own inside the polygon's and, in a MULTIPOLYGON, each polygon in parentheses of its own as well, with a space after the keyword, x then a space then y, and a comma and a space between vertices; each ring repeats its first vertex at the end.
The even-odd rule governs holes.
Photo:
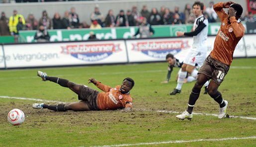
POLYGON ((206 57, 206 52, 190 49, 183 63, 191 66, 196 66, 197 64, 197 66, 200 68, 203 65, 206 57))

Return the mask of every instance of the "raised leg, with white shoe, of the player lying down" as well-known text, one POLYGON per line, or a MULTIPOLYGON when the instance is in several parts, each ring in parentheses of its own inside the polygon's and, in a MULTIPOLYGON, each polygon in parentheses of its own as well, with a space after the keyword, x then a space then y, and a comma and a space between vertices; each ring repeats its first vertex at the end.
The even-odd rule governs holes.
POLYGON ((71 82, 67 79, 62 79, 62 78, 59 78, 59 77, 51 77, 51 76, 48 76, 46 73, 43 73, 41 71, 37 71, 37 75, 39 77, 41 77, 43 81, 48 80, 48 81, 57 83, 62 87, 67 87, 67 88, 71 89, 73 92, 75 92, 76 94, 79 93, 79 89, 81 87, 80 84, 76 84, 76 83, 73 83, 73 82, 71 82))

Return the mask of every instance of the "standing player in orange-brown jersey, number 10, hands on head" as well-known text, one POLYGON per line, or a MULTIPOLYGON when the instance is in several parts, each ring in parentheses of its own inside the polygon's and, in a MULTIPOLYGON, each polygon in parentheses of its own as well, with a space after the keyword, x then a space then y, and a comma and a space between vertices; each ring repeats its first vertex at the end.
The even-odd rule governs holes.
POLYGON ((227 112, 228 101, 222 98, 218 88, 229 71, 234 50, 245 34, 245 27, 239 20, 243 13, 243 8, 240 4, 228 1, 214 4, 214 10, 221 19, 221 27, 216 36, 213 50, 198 72, 197 82, 189 96, 187 110, 176 116, 182 120, 193 117, 192 111, 196 100, 199 98, 200 90, 209 79, 212 80, 208 86, 208 94, 220 104, 218 118, 224 118, 227 112), (228 14, 223 8, 229 8, 228 14))

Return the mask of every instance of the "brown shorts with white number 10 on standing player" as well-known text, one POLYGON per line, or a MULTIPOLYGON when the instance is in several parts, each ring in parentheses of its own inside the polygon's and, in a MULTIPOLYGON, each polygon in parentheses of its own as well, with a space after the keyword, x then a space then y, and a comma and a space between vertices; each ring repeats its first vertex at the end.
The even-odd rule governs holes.
POLYGON ((198 74, 208 76, 209 79, 212 79, 220 86, 229 71, 229 67, 229 65, 212 58, 211 55, 208 55, 198 74))

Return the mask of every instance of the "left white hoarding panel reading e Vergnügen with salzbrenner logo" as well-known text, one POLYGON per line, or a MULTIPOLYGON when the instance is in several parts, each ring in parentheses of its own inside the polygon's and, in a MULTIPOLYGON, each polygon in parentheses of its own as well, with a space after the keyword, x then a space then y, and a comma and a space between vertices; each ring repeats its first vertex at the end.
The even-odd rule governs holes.
POLYGON ((6 67, 127 63, 125 41, 5 45, 6 67))

